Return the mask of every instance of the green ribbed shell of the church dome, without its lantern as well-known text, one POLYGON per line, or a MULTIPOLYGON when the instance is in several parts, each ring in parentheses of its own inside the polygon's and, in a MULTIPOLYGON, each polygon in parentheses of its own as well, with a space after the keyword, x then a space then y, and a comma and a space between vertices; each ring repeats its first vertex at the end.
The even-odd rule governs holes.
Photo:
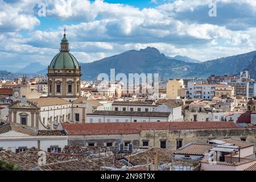
POLYGON ((76 58, 69 52, 60 52, 53 57, 50 69, 79 69, 76 58))

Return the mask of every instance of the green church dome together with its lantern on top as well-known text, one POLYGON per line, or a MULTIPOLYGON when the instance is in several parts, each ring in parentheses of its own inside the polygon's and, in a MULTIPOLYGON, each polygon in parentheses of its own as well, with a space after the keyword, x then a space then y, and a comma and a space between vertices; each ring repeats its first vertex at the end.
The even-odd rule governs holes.
POLYGON ((49 69, 80 69, 76 58, 69 52, 66 34, 60 43, 60 52, 53 57, 49 69))

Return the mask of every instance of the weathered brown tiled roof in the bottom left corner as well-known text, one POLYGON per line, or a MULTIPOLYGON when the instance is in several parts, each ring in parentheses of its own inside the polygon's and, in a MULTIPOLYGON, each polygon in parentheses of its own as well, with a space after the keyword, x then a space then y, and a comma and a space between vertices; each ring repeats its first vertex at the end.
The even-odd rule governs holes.
POLYGON ((38 166, 38 163, 25 159, 23 158, 23 156, 17 155, 10 150, 0 151, 0 160, 3 160, 7 163, 14 163, 20 166, 20 169, 24 171, 27 171, 33 167, 38 166))

